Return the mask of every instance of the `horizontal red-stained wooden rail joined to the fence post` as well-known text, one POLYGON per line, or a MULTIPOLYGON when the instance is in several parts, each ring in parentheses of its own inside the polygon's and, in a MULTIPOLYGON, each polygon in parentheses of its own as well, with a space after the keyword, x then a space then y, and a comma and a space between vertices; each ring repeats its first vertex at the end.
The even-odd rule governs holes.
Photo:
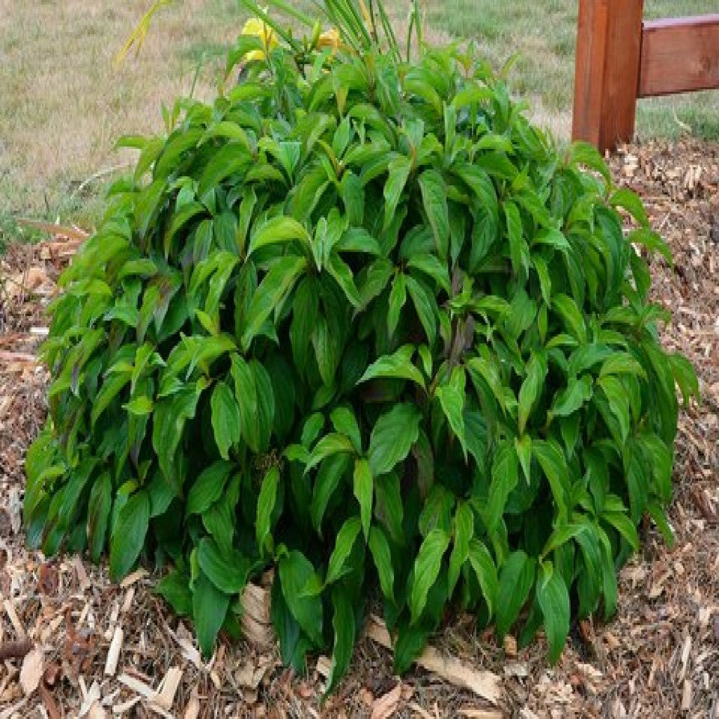
POLYGON ((638 97, 719 88, 719 14, 644 23, 638 97))

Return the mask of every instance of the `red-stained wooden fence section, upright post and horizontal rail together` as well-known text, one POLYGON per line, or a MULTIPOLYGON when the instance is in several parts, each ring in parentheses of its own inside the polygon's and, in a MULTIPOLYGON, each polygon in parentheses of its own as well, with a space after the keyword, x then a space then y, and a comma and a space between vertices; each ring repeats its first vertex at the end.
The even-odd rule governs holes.
POLYGON ((719 14, 643 19, 643 0, 580 0, 572 137, 631 141, 636 101, 719 88, 719 14))

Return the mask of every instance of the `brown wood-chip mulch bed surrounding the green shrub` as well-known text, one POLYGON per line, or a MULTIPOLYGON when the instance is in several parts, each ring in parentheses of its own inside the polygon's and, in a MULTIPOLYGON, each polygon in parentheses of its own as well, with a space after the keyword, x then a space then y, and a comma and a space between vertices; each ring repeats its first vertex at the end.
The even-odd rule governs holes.
POLYGON ((326 661, 306 677, 275 649, 221 644, 204 663, 191 628, 139 570, 122 585, 77 557, 24 549, 24 451, 45 418, 47 372, 35 353, 74 239, 15 245, 0 257, 0 719, 145 717, 719 717, 719 145, 625 147, 615 177, 644 198, 674 253, 653 260, 654 296, 673 313, 664 344, 692 360, 702 403, 682 411, 668 549, 643 528, 620 573, 618 615, 574 628, 557 667, 541 641, 498 646, 459 617, 436 638, 448 655, 501 677, 492 707, 360 641, 349 677, 321 705, 326 661))

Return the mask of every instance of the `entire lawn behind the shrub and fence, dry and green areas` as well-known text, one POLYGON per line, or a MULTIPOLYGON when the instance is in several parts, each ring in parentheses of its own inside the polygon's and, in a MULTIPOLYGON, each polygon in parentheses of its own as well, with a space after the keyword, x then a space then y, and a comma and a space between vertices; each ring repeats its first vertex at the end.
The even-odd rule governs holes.
MULTIPOLYGON (((119 68, 117 50, 150 0, 0 0, 0 244, 32 216, 92 226, 124 133, 162 127, 160 104, 193 86, 210 97, 226 48, 242 27, 236 0, 178 0, 142 51, 119 68), (89 180, 93 175, 99 176, 89 180)), ((404 3, 388 1, 394 14, 404 3)), ((713 12, 717 0, 646 0, 647 17, 713 12)), ((426 35, 474 40, 496 67, 518 54, 510 82, 534 119, 562 138, 571 126, 576 0, 426 0, 426 35)), ((719 91, 640 101, 640 137, 691 132, 719 139, 719 91)))

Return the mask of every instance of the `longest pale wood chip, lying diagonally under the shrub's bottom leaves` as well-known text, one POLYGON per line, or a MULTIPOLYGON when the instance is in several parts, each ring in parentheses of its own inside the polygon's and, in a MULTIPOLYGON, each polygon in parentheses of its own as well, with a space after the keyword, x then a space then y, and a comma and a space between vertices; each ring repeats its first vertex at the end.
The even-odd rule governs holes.
MULTIPOLYGON (((392 641, 385 623, 375 616, 367 624, 367 635, 377 644, 392 649, 392 641)), ((502 695, 501 678, 493 672, 477 671, 454 656, 444 656, 432 646, 426 647, 415 664, 433 672, 446 682, 469 689, 478 697, 498 704, 502 695)))

